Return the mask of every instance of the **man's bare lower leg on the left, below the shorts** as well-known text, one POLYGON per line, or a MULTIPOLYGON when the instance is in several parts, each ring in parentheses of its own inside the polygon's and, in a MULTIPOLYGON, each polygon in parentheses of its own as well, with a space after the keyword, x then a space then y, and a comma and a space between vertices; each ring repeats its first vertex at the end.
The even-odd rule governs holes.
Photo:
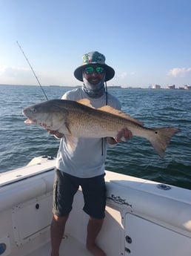
POLYGON ((64 229, 68 216, 58 217, 53 216, 53 220, 50 226, 50 238, 51 238, 51 256, 59 256, 59 248, 62 237, 64 235, 64 229))

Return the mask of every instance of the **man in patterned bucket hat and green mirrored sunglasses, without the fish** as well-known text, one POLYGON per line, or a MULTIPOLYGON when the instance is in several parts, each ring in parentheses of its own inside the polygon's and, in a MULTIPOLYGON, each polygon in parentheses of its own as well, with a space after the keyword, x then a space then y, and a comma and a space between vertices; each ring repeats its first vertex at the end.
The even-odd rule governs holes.
MULTIPOLYGON (((62 99, 78 100, 87 98, 94 108, 110 105, 121 109, 114 96, 107 93, 104 82, 112 79, 113 68, 105 64, 103 54, 96 51, 84 54, 83 64, 76 68, 74 76, 83 82, 82 88, 69 91, 62 99)), ((79 138, 75 150, 70 148, 68 137, 57 131, 49 131, 61 138, 56 160, 56 177, 53 194, 53 221, 51 223, 51 256, 59 255, 59 246, 64 234, 65 224, 72 209, 73 197, 81 186, 84 195, 84 211, 90 215, 87 225, 87 249, 94 256, 106 256, 96 245, 96 237, 104 221, 106 188, 104 183, 104 162, 107 157, 107 145, 128 140, 132 134, 127 128, 115 138, 89 139, 79 138), (121 140, 122 139, 122 140, 121 140), (95 193, 96 191, 96 193, 95 193)))

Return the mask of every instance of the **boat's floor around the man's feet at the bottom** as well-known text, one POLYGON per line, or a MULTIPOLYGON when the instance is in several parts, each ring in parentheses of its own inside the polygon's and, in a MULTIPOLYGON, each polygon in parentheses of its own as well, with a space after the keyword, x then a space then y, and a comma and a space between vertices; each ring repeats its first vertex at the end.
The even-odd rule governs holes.
MULTIPOLYGON (((45 243, 44 246, 26 256, 50 256, 50 243, 45 243)), ((60 246, 60 256, 92 256, 92 254, 78 240, 65 236, 60 246)))

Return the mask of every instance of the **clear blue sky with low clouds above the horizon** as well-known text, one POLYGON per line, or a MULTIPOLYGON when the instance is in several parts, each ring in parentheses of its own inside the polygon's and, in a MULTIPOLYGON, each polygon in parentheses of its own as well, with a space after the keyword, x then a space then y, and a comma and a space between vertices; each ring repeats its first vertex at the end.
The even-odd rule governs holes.
POLYGON ((109 86, 191 85, 190 13, 190 0, 0 0, 0 84, 38 85, 21 45, 41 85, 81 85, 92 50, 109 86))

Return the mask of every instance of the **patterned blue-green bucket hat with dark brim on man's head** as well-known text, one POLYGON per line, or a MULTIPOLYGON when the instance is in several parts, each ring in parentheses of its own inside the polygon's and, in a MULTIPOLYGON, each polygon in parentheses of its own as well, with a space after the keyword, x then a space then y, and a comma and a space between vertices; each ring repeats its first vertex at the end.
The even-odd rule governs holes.
POLYGON ((101 53, 98 53, 98 51, 92 51, 90 53, 86 53, 84 54, 82 59, 83 59, 82 65, 76 68, 76 70, 74 71, 74 76, 76 77, 76 79, 78 79, 81 82, 83 82, 82 71, 84 70, 84 68, 92 64, 97 64, 104 68, 105 81, 112 79, 113 76, 115 75, 115 70, 105 64, 105 56, 101 53))

